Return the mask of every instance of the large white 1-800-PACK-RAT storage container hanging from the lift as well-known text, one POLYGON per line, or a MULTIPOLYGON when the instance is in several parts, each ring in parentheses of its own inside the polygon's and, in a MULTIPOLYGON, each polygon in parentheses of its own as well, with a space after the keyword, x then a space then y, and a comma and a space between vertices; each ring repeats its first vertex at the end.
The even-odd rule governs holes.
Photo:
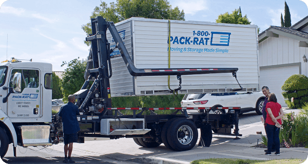
MULTIPOLYGON (((168 68, 168 20, 132 17, 115 24, 138 69, 168 68)), ((258 27, 170 20, 170 68, 238 68, 244 91, 259 91, 258 27)), ((114 48, 112 36, 107 39, 114 48)), ((168 76, 129 74, 119 50, 111 54, 112 96, 168 93, 168 76)), ((170 76, 170 88, 179 80, 170 76)), ((225 92, 240 88, 232 73, 182 75, 179 93, 225 92)))

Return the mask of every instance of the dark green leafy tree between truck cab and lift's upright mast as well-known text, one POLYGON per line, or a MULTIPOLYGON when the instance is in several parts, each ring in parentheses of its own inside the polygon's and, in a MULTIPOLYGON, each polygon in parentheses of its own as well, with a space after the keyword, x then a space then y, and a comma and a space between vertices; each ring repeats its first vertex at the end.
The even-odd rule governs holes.
POLYGON ((86 69, 87 62, 84 60, 79 60, 75 58, 69 63, 63 61, 64 66, 67 65, 67 69, 65 69, 65 73, 63 74, 63 79, 61 83, 61 88, 63 90, 63 99, 67 101, 67 97, 70 94, 74 94, 79 91, 85 82, 84 71, 86 69))

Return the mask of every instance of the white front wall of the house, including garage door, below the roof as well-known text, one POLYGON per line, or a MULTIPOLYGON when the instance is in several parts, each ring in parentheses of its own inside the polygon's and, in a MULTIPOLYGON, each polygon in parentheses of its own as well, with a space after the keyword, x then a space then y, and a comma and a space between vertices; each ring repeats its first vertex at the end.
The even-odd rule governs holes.
POLYGON ((284 37, 268 37, 259 43, 260 87, 267 86, 277 96, 278 103, 287 107, 281 94, 284 81, 293 74, 307 76, 308 48, 299 47, 299 40, 284 37))

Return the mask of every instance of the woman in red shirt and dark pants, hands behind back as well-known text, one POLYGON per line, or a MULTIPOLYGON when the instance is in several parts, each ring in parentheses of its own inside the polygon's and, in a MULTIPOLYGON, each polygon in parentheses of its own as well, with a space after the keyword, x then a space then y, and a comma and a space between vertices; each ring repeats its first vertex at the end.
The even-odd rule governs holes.
POLYGON ((280 141, 279 141, 279 130, 281 127, 281 118, 283 117, 283 111, 281 105, 277 103, 277 98, 274 93, 268 94, 268 103, 266 104, 266 120, 265 129, 267 135, 267 153, 271 154, 272 145, 275 143, 276 153, 275 155, 280 155, 280 141))

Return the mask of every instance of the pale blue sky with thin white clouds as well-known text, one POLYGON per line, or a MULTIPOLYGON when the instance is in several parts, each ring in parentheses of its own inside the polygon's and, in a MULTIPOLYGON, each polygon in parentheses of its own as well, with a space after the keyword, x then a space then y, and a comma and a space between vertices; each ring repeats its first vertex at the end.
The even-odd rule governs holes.
MULTIPOLYGON (((103 1, 103 0, 102 0, 103 1)), ((104 1, 107 4, 116 0, 104 1)), ((232 13, 241 7, 251 24, 261 31, 280 26, 284 0, 170 0, 172 8, 184 10, 185 20, 215 22, 218 15, 232 13)), ((286 0, 294 25, 308 15, 307 5, 299 0, 286 0)), ((89 47, 83 42, 82 25, 101 0, 9 0, 0 7, 0 62, 11 57, 51 63, 53 71, 64 71, 63 61, 86 59, 89 47)))

